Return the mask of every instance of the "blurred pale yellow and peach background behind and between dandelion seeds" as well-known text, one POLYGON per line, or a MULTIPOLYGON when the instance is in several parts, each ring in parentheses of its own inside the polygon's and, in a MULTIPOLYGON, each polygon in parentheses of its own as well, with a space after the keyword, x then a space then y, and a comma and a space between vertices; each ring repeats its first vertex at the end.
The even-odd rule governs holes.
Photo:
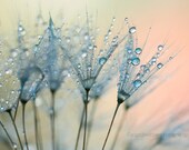
MULTIPOLYGON (((125 22, 125 18, 128 18, 129 22, 137 27, 139 44, 145 42, 149 28, 151 28, 147 43, 147 53, 151 53, 152 47, 163 43, 165 40, 170 46, 172 53, 182 49, 177 58, 157 74, 160 79, 166 78, 166 81, 128 112, 126 119, 128 122, 127 129, 121 131, 120 139, 125 139, 128 136, 128 130, 131 133, 138 133, 145 131, 145 127, 151 127, 157 124, 157 122, 162 122, 161 127, 163 128, 175 117, 179 121, 186 119, 189 113, 188 0, 1 0, 0 38, 6 39, 13 47, 17 38, 18 20, 21 20, 26 29, 28 29, 27 32, 32 34, 36 28, 36 17, 39 13, 42 14, 46 21, 48 21, 50 13, 56 24, 60 26, 62 22, 70 24, 76 22, 78 16, 84 18, 86 10, 89 14, 97 17, 97 26, 101 29, 102 34, 109 28, 112 17, 116 17, 115 28, 118 28, 118 30, 125 22), (182 110, 185 110, 183 113, 180 113, 182 110)), ((100 44, 100 41, 98 42, 100 44)), ((8 50, 2 50, 4 56, 7 52, 8 50)), ((140 92, 138 93, 139 96, 140 92)), ((116 98, 117 88, 113 84, 98 103, 98 111, 94 116, 94 129, 90 139, 90 150, 97 150, 97 147, 102 144, 116 106, 116 98)), ((61 91, 58 92, 57 99, 62 101, 61 91)), ((58 128, 67 131, 64 132, 67 138, 60 141, 67 148, 71 142, 74 142, 82 103, 81 100, 72 100, 66 101, 63 104, 64 107, 61 109, 58 120, 58 128)), ((121 113, 122 110, 118 113, 115 130, 118 127, 121 113)), ((27 121, 30 122, 31 120, 27 119, 27 121)), ((48 118, 44 118, 44 122, 48 122, 48 118)), ((48 127, 48 124, 42 126, 48 127)), ((32 134, 32 130, 30 130, 28 134, 32 134)), ((112 130, 112 134, 115 130, 112 130)), ((161 131, 161 128, 158 128, 158 131, 161 131)), ((48 128, 44 129, 43 133, 47 132, 48 128)), ((29 140, 32 141, 32 137, 33 134, 29 140)), ((49 139, 44 140, 48 141, 49 139)), ((111 141, 110 139, 109 144, 111 141)), ((46 143, 47 147, 50 144, 46 143)), ((123 144, 122 141, 119 142, 116 150, 120 150, 120 147, 123 144)), ((163 150, 168 148, 160 146, 157 149, 163 150)), ((6 148, 3 149, 6 150, 6 148)))

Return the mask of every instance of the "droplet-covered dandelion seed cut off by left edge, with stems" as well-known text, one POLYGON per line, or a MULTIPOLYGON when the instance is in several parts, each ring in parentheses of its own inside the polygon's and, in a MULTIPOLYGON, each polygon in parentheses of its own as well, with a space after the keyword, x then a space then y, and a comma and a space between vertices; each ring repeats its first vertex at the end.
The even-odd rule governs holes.
MULTIPOLYGON (((1 66, 0 66, 0 112, 9 113, 9 117, 11 119, 11 122, 13 124, 13 128, 14 128, 17 137, 18 137, 18 141, 22 149, 20 136, 19 136, 18 129, 17 129, 17 126, 16 126, 16 122, 14 122, 14 119, 12 116, 12 110, 14 109, 14 107, 18 102, 19 94, 20 94, 19 80, 16 76, 13 76, 12 68, 10 64, 10 59, 9 59, 9 60, 7 60, 6 63, 1 63, 1 66), (10 89, 8 89, 7 87, 9 87, 10 89)), ((3 128, 3 130, 6 131, 6 134, 8 136, 9 140, 11 142, 12 149, 17 150, 17 143, 13 142, 10 133, 8 132, 8 130, 2 124, 1 121, 0 121, 0 124, 3 128)))

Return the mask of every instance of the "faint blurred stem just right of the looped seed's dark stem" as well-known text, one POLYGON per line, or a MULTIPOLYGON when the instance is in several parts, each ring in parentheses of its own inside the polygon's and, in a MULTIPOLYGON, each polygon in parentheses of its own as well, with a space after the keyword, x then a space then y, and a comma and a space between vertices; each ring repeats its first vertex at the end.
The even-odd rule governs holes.
POLYGON ((41 130, 39 130, 39 120, 38 120, 38 110, 36 107, 36 100, 33 99, 32 101, 33 106, 33 116, 34 116, 34 137, 36 137, 36 147, 37 150, 42 150, 42 139, 41 139, 41 130), (41 147, 40 147, 41 146, 41 147))

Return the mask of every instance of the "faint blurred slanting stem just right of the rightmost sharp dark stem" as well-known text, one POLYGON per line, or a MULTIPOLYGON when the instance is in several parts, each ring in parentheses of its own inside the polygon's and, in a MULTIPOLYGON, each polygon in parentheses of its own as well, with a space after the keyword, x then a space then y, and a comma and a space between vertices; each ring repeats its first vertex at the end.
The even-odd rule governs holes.
POLYGON ((113 150, 113 149, 115 149, 115 146, 116 146, 117 140, 118 140, 118 137, 119 137, 119 133, 120 133, 120 131, 121 131, 121 129, 122 129, 122 126, 123 126, 123 123, 125 123, 125 117, 126 117, 126 114, 127 114, 127 110, 125 110, 125 112, 122 113, 122 117, 121 117, 121 120, 120 120, 120 122, 119 122, 119 127, 117 128, 116 136, 115 136, 115 138, 113 138, 113 142, 112 142, 112 144, 111 144, 110 150, 113 150))

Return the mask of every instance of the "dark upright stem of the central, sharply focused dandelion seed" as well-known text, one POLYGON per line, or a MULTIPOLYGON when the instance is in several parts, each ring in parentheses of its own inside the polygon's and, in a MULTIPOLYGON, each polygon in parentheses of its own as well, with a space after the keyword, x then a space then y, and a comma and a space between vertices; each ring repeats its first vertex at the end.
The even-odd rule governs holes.
POLYGON ((84 134, 83 134, 83 144, 82 144, 82 150, 86 150, 86 136, 87 136, 87 122, 88 122, 88 98, 89 98, 89 90, 86 90, 86 100, 83 101, 84 103, 84 114, 86 114, 86 118, 84 118, 84 134))

